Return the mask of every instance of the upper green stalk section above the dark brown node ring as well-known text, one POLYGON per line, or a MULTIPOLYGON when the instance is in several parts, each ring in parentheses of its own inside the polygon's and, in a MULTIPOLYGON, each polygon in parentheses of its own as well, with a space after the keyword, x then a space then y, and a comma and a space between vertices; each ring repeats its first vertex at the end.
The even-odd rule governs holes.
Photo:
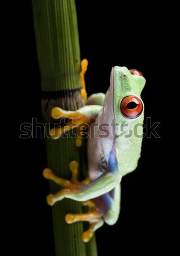
POLYGON ((74 0, 32 0, 41 86, 80 88, 80 51, 74 0))

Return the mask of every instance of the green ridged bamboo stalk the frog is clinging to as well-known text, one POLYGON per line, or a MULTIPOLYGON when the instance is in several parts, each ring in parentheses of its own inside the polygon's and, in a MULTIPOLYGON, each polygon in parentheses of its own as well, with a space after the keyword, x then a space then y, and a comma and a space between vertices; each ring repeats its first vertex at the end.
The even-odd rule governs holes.
MULTIPOLYGON (((42 112, 45 122, 52 122, 50 110, 59 106, 76 110, 84 105, 80 96, 80 50, 74 0, 32 0, 36 32, 37 55, 44 92, 42 112)), ((72 133, 71 133, 72 135, 72 133)), ((70 179, 68 163, 78 160, 80 176, 84 176, 85 145, 75 146, 75 139, 68 137, 57 141, 46 139, 48 167, 59 177, 70 179)), ((59 187, 50 182, 50 193, 59 187)), ((96 256, 95 237, 82 242, 82 222, 68 225, 67 213, 82 212, 81 204, 64 199, 52 207, 54 241, 57 256, 96 256)))

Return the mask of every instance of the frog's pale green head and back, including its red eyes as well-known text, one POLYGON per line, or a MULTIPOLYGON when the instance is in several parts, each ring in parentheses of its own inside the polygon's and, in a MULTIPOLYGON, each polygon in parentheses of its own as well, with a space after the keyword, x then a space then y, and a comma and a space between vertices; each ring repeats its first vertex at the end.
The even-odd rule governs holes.
POLYGON ((134 171, 143 138, 144 104, 140 97, 145 79, 139 71, 114 67, 111 73, 115 150, 121 174, 134 171))

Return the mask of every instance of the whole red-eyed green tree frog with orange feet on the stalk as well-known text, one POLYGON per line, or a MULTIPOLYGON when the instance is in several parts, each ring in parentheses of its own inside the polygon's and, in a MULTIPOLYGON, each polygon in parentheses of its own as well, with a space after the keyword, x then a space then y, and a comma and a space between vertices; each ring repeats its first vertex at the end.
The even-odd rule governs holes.
POLYGON ((82 236, 84 242, 88 242, 104 222, 114 225, 118 220, 121 180, 138 166, 142 148, 144 104, 141 93, 145 85, 145 78, 138 70, 115 66, 110 73, 110 86, 106 94, 96 93, 87 98, 84 85, 87 64, 87 60, 82 61, 80 73, 85 106, 76 111, 53 108, 54 119, 64 117, 71 119, 71 122, 66 127, 52 129, 50 135, 53 139, 59 139, 65 131, 74 129, 76 124, 76 146, 80 147, 80 126, 89 124, 88 177, 83 181, 77 179, 76 161, 70 162, 71 180, 56 176, 49 168, 43 172, 46 179, 61 186, 55 195, 47 196, 49 205, 67 198, 88 207, 87 213, 68 213, 65 217, 68 224, 89 222, 89 229, 82 236))

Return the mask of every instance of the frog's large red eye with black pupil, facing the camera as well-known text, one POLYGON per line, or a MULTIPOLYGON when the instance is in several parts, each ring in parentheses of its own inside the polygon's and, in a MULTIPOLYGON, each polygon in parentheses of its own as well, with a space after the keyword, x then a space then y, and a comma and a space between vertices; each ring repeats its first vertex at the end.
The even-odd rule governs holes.
POLYGON ((143 112, 143 102, 136 96, 127 96, 121 102, 121 112, 127 118, 137 118, 143 112))

